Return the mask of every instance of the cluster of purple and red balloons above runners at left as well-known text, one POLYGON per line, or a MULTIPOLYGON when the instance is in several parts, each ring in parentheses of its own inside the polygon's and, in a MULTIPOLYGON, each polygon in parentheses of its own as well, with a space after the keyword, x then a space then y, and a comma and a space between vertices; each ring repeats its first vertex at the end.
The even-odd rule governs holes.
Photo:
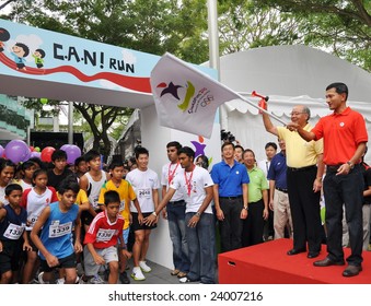
MULTIPOLYGON (((81 156, 81 150, 74 144, 63 144, 60 150, 67 153, 67 163, 73 164, 76 158, 81 156)), ((56 151, 53 146, 40 150, 38 146, 28 146, 22 140, 11 140, 5 148, 0 145, 0 157, 5 157, 14 164, 25 162, 28 158, 37 157, 43 162, 51 162, 51 154, 56 151)))

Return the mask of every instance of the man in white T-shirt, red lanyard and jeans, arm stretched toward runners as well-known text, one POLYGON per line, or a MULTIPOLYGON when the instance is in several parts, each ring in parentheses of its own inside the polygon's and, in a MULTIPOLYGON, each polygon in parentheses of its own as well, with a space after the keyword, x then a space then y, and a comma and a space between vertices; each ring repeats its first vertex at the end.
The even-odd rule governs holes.
POLYGON ((183 173, 170 185, 169 191, 155 211, 144 219, 147 225, 156 223, 156 215, 172 199, 176 190, 182 190, 186 201, 186 236, 189 250, 189 273, 179 279, 181 283, 215 283, 215 219, 211 210, 213 181, 208 170, 195 166, 195 151, 188 146, 179 150, 183 173))

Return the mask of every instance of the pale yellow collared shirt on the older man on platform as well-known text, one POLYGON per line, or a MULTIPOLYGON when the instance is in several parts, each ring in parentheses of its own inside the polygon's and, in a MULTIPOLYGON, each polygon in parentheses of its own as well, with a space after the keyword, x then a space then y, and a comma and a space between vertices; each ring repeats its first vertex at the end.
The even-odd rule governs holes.
MULTIPOLYGON (((305 131, 312 127, 306 125, 305 131)), ((302 168, 317 164, 317 155, 323 153, 323 141, 310 141, 302 139, 297 131, 290 131, 285 127, 277 127, 278 137, 286 142, 286 157, 289 167, 302 168)))

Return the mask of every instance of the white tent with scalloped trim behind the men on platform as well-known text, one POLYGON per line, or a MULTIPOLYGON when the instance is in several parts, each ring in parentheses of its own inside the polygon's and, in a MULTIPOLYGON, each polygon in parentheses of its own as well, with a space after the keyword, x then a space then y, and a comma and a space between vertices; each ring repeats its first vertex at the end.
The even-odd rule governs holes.
MULTIPOLYGON (((331 114, 324 99, 325 87, 344 82, 349 87, 348 105, 364 116, 371 131, 371 74, 329 54, 305 46, 251 49, 221 57, 220 75, 223 84, 256 104, 259 98, 251 96, 253 91, 268 95, 268 110, 285 122, 290 121, 294 105, 306 105, 313 126, 320 117, 331 114)), ((275 119, 273 122, 282 125, 275 119)), ((276 137, 265 131, 257 109, 243 101, 223 105, 221 126, 245 149, 252 149, 257 161, 265 158, 267 142, 277 143, 276 137)), ((366 161, 371 161, 371 152, 366 161)))

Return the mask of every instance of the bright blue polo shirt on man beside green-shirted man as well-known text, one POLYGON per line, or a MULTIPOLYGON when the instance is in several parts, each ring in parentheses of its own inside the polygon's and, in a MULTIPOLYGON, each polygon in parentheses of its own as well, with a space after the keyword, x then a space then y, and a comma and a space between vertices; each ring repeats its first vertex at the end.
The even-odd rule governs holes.
POLYGON ((219 185, 219 197, 242 196, 242 184, 250 183, 245 165, 236 161, 232 167, 224 161, 213 165, 211 178, 219 185))

